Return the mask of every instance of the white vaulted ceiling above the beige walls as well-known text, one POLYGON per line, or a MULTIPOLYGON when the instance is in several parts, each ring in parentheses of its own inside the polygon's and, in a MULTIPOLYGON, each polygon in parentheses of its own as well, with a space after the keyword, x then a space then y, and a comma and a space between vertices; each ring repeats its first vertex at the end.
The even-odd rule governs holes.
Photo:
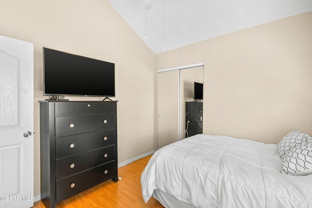
POLYGON ((312 11, 312 0, 108 0, 155 53, 312 11))

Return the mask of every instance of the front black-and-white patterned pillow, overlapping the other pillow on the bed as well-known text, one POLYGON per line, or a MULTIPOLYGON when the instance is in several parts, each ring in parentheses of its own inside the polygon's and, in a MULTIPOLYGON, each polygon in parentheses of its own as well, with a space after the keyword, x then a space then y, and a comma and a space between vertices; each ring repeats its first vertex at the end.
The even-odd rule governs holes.
POLYGON ((309 175, 312 173, 312 144, 299 145, 289 151, 281 162, 281 173, 309 175))

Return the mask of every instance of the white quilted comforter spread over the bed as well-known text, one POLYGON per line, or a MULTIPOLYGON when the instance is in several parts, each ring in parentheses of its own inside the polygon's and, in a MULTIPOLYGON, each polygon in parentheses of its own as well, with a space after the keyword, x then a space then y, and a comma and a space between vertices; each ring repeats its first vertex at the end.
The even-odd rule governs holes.
POLYGON ((197 134, 155 152, 141 175, 155 189, 196 208, 312 208, 312 174, 281 174, 276 145, 197 134))

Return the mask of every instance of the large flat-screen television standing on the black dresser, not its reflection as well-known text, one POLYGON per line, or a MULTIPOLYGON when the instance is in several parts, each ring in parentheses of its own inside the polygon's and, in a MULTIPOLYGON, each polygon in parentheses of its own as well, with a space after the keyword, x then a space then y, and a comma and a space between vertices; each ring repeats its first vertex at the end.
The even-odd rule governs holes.
POLYGON ((43 95, 115 97, 115 64, 43 48, 43 95))

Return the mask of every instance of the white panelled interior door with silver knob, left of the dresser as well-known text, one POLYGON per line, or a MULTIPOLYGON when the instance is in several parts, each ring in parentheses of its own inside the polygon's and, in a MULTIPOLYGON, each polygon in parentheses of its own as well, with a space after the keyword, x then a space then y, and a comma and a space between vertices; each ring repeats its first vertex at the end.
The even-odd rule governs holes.
POLYGON ((34 200, 33 44, 0 36, 0 207, 34 200))

